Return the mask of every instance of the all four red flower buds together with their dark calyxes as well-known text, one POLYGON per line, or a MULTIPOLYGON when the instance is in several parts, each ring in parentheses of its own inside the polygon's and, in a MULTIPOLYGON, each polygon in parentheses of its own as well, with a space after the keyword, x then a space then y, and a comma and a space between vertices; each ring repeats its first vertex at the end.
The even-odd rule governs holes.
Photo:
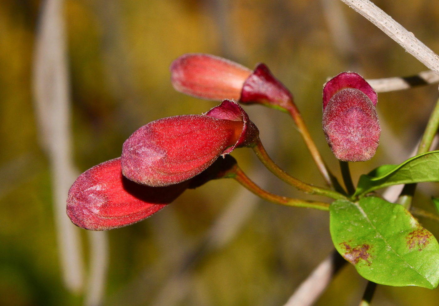
MULTIPOLYGON (((167 117, 142 126, 124 142, 120 158, 81 174, 67 199, 67 214, 79 227, 108 230, 133 224, 188 188, 235 177, 236 161, 227 154, 260 142, 259 130, 234 100, 300 117, 291 93, 264 64, 251 71, 220 57, 195 53, 179 57, 170 69, 176 90, 226 100, 202 115, 167 117)), ((323 129, 335 156, 346 161, 370 159, 381 131, 374 89, 360 75, 344 72, 325 84, 323 95, 323 129)), ((281 172, 282 177, 287 175, 281 172)))

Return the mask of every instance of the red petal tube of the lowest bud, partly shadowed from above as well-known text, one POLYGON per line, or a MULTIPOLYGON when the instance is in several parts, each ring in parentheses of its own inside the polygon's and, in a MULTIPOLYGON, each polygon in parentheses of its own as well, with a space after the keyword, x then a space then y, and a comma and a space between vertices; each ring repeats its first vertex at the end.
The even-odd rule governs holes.
POLYGON ((187 186, 188 182, 158 188, 136 184, 123 177, 116 158, 79 175, 68 192, 67 215, 81 228, 120 228, 161 210, 187 186))

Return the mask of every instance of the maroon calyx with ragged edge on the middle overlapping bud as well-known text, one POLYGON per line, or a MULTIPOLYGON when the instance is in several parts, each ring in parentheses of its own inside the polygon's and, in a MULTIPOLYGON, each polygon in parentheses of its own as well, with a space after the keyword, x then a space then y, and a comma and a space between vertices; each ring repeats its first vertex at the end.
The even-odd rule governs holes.
POLYGON ((245 112, 245 110, 243 110, 242 107, 234 101, 224 100, 223 103, 217 107, 213 107, 211 110, 205 113, 205 115, 218 119, 244 122, 239 139, 234 146, 224 150, 222 154, 223 157, 225 154, 232 152, 236 148, 252 146, 256 143, 257 139, 259 139, 258 128, 252 121, 250 121, 250 118, 248 118, 248 114, 245 112))

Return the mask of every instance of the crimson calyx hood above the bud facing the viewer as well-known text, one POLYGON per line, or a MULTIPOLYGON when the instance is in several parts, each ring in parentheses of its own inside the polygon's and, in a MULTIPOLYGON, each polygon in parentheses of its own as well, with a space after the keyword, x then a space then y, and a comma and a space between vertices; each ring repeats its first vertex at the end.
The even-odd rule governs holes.
POLYGON ((361 75, 348 71, 336 75, 323 85, 323 110, 325 110, 331 97, 344 88, 356 88, 361 90, 369 97, 374 106, 377 105, 378 95, 375 89, 373 89, 361 75))

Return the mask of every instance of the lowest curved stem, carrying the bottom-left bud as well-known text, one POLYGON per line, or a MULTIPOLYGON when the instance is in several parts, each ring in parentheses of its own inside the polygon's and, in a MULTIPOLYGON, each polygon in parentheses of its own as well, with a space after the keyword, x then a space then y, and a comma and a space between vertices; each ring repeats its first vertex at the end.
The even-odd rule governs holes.
POLYGON ((239 167, 236 168, 235 174, 235 180, 237 180, 241 185, 253 192, 256 196, 259 196, 261 199, 264 199, 268 202, 285 206, 307 207, 326 211, 329 210, 329 203, 291 199, 285 196, 278 196, 271 192, 268 192, 256 185, 239 167))

